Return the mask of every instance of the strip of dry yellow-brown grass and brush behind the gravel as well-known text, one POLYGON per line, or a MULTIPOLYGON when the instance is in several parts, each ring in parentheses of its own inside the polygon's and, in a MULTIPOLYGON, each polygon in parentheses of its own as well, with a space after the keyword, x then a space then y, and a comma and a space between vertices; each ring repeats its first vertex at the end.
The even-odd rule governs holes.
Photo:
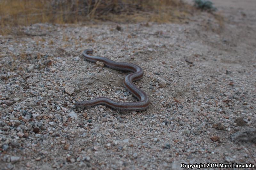
POLYGON ((175 21, 186 18, 187 9, 180 0, 0 0, 0 33, 10 33, 13 26, 45 22, 175 21))

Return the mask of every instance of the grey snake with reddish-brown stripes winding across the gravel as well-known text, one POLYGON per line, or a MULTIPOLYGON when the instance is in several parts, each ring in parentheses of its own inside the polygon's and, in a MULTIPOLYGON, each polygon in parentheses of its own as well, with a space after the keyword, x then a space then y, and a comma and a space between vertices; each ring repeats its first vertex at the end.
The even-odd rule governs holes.
POLYGON ((103 62, 106 67, 114 70, 122 70, 132 72, 128 74, 124 80, 123 85, 126 90, 128 90, 134 97, 139 101, 136 102, 116 102, 108 97, 96 97, 91 100, 77 101, 75 102, 76 107, 89 107, 95 105, 106 105, 116 110, 120 111, 143 111, 149 106, 148 95, 141 90, 139 87, 133 84, 133 81, 139 80, 143 77, 144 71, 137 64, 126 63, 126 62, 116 62, 110 60, 106 57, 92 56, 93 50, 86 49, 83 51, 83 56, 86 60, 96 63, 97 61, 103 62), (89 55, 91 54, 91 55, 89 55))

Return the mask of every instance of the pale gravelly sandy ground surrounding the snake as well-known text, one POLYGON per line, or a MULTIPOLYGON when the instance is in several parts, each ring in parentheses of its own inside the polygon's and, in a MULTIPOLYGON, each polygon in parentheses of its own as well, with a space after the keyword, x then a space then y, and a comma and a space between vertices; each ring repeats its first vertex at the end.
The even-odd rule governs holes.
POLYGON ((214 2, 216 14, 186 24, 35 24, 1 36, 1 168, 255 166, 255 1, 214 2), (74 108, 96 96, 136 101, 122 86, 127 73, 85 61, 86 48, 140 65, 148 110, 74 108))

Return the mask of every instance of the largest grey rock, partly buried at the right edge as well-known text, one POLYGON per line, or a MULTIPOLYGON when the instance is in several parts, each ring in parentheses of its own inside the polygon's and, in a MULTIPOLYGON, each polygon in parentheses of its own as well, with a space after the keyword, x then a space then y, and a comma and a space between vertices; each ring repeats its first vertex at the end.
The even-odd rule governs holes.
POLYGON ((256 144, 256 128, 246 128, 231 135, 232 142, 251 142, 256 144))

